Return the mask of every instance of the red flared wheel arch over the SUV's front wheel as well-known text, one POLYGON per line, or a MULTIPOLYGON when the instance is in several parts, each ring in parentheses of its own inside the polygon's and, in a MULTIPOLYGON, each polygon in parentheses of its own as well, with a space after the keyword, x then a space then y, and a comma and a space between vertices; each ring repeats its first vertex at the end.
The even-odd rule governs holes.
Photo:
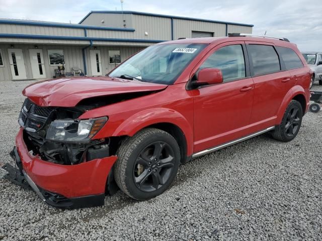
POLYGON ((145 127, 158 123, 170 123, 181 129, 187 140, 187 156, 193 153, 193 130, 188 120, 178 111, 169 108, 145 109, 125 119, 112 136, 133 136, 145 127))

